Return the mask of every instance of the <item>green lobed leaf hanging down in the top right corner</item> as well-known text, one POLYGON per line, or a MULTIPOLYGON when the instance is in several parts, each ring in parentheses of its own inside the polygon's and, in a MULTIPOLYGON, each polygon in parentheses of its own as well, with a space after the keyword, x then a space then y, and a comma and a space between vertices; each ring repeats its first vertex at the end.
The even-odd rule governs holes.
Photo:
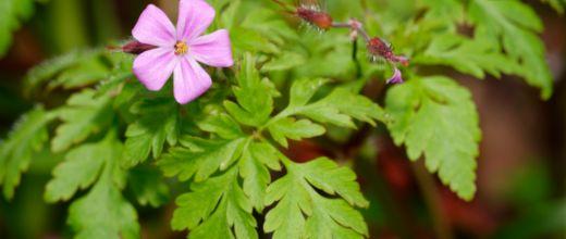
POLYGON ((536 12, 517 0, 476 0, 470 1, 468 14, 476 24, 476 37, 501 46, 500 49, 520 63, 519 75, 529 85, 541 88, 541 97, 549 99, 553 77, 544 58, 544 45, 536 35, 542 30, 536 12))

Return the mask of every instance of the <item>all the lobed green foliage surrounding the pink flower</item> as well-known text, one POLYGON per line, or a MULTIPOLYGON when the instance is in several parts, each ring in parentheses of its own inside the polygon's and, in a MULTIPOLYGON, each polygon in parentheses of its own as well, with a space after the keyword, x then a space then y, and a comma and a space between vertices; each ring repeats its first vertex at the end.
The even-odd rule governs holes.
MULTIPOLYGON (((0 54, 30 13, 32 1, 15 2, 0 3, 0 54)), ((355 173, 327 158, 295 163, 282 153, 288 140, 344 143, 359 126, 383 123, 411 161, 423 158, 431 173, 470 200, 478 113, 467 89, 424 76, 435 71, 428 66, 477 78, 518 75, 543 98, 552 92, 537 37, 541 21, 516 0, 329 0, 336 21, 359 17, 371 36, 392 41, 396 54, 413 56, 403 66, 408 80, 385 88, 380 84, 391 66, 367 61, 361 39, 353 45, 346 29, 295 30, 293 17, 272 1, 210 2, 212 28, 230 32, 235 66, 207 71, 212 88, 187 105, 174 101, 170 84, 160 92, 144 89, 132 73, 134 56, 103 49, 71 52, 29 71, 26 95, 69 99, 32 110, 1 142, 4 197, 13 197, 22 172, 50 140, 64 159, 45 200, 71 201, 67 223, 78 238, 139 237, 136 210, 122 191, 136 206, 176 198, 172 227, 190 238, 258 238, 260 227, 274 238, 366 238, 357 209, 369 202, 355 173), (463 24, 473 28, 472 37, 460 34, 463 24), (385 109, 376 103, 379 93, 386 93, 385 109), (176 178, 181 192, 170 194, 173 180, 163 177, 176 178)), ((551 1, 558 10, 559 3, 551 1)), ((383 130, 368 135, 374 134, 383 130)))

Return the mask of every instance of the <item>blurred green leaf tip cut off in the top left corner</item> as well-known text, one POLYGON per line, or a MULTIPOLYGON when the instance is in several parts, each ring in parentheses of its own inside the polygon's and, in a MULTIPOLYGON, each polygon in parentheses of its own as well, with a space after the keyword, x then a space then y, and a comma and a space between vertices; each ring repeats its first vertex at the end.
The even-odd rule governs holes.
POLYGON ((12 32, 20 28, 21 22, 34 13, 34 0, 2 0, 0 2, 0 58, 12 43, 12 32))

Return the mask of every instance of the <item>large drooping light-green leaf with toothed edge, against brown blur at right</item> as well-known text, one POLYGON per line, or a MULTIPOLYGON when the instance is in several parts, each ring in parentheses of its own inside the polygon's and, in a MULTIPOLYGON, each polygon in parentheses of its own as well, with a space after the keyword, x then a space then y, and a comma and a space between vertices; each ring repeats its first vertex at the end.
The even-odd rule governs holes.
POLYGON ((413 161, 424 155, 429 172, 471 200, 481 131, 470 92, 450 78, 432 76, 395 86, 385 102, 395 143, 405 144, 413 161))

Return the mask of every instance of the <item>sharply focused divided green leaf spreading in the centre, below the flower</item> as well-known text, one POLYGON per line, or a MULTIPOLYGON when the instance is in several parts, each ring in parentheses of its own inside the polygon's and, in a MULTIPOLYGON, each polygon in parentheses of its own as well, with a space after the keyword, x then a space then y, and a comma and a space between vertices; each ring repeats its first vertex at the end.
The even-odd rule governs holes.
MULTIPOLYGON (((352 117, 373 123, 381 116, 381 109, 366 98, 342 88, 308 104, 318 87, 328 80, 303 79, 293 84, 288 106, 271 117, 272 98, 279 93, 267 79, 260 79, 254 62, 255 60, 247 55, 237 74, 238 85, 234 88, 237 103, 224 102, 225 110, 232 116, 217 113, 198 123, 201 130, 217 137, 183 137, 181 146, 172 148, 158 161, 167 176, 192 181, 190 192, 182 194, 176 200, 180 207, 173 216, 173 228, 189 229, 192 238, 257 238, 256 228, 259 225, 251 216, 251 211, 256 209, 262 213, 267 205, 280 200, 270 196, 273 192, 270 192, 269 188, 283 187, 278 185, 284 183, 271 184, 270 169, 280 171, 280 162, 283 162, 287 175, 278 181, 287 181, 284 178, 295 177, 299 172, 304 172, 304 175, 299 176, 300 180, 304 180, 303 184, 312 184, 329 194, 343 198, 324 198, 309 186, 308 190, 315 194, 309 194, 306 200, 317 200, 321 205, 315 206, 316 213, 308 218, 292 218, 291 221, 295 222, 290 223, 305 224, 304 222, 308 221, 307 224, 310 225, 293 228, 294 230, 315 237, 313 230, 320 229, 316 226, 324 224, 331 235, 367 235, 366 224, 354 206, 367 206, 368 202, 359 192, 359 186, 355 183, 356 176, 350 169, 339 167, 325 159, 305 165, 292 163, 261 134, 262 129, 267 129, 275 141, 286 146, 287 139, 310 138, 324 133, 323 126, 306 118, 296 121, 292 115, 309 117, 309 112, 315 112, 317 108, 331 108, 325 111, 330 113, 312 115, 317 115, 319 122, 331 122, 328 118, 337 115, 344 118, 342 122, 347 123, 341 125, 354 126, 352 117), (354 110, 346 110, 345 103, 339 103, 350 100, 349 97, 355 99, 350 101, 354 110), (372 111, 376 109, 378 112, 372 111), (242 127, 247 126, 255 129, 246 134, 242 127), (320 169, 324 172, 317 172, 320 169)), ((285 187, 296 188, 293 185, 285 187)), ((272 223, 269 219, 269 215, 281 213, 279 206, 284 204, 278 203, 278 206, 270 210, 267 214, 268 221, 263 225, 267 231, 274 231, 275 237, 286 235, 290 228, 279 227, 276 222, 272 223)))

